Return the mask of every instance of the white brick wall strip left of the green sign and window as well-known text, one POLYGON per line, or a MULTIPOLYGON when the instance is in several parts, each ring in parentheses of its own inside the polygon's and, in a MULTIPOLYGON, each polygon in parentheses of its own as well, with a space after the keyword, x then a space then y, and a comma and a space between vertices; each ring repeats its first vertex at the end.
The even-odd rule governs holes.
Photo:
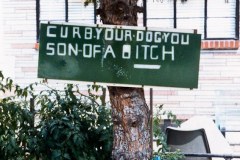
POLYGON ((7 73, 20 85, 37 81, 36 1, 2 0, 3 53, 7 73), (13 70, 12 70, 13 69, 13 70))

